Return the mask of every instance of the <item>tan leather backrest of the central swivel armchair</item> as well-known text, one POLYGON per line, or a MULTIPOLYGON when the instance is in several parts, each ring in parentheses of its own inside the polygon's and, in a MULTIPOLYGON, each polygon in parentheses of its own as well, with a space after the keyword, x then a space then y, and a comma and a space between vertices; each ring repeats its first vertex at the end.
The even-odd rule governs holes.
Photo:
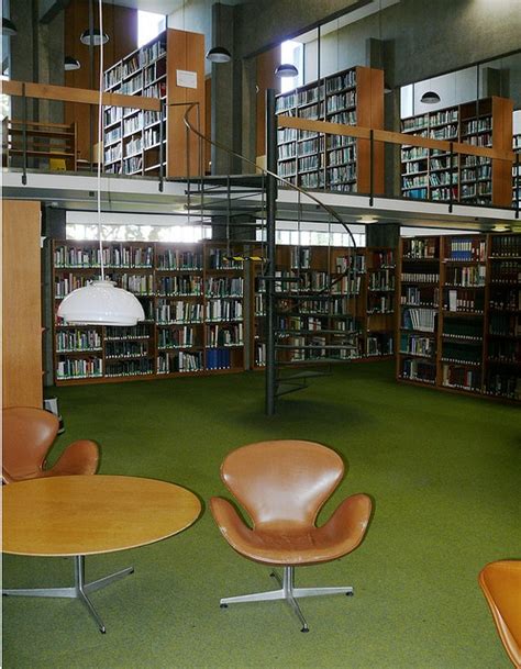
POLYGON ((313 524, 344 473, 342 458, 313 442, 258 442, 230 453, 221 478, 257 528, 313 524))

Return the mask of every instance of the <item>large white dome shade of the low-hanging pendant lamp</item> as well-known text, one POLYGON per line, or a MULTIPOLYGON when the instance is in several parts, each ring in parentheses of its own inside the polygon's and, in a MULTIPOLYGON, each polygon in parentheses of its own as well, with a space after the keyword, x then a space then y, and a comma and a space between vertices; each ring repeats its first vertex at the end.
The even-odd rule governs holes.
POLYGON ((78 325, 135 325, 145 320, 145 312, 135 296, 106 280, 73 290, 60 303, 58 316, 78 325))

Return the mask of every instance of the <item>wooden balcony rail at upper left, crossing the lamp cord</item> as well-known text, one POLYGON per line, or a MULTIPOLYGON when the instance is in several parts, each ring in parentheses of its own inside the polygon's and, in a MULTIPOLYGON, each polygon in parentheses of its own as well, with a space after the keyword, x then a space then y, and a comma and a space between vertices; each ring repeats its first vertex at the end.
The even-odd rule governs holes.
MULTIPOLYGON (((23 81, 2 81, 2 93, 5 96, 23 96, 23 81)), ((60 100, 62 102, 80 102, 84 104, 99 104, 99 92, 86 88, 67 88, 66 86, 52 86, 51 83, 25 83, 27 98, 45 100, 60 100)), ((128 107, 131 109, 145 109, 160 111, 160 101, 155 98, 142 96, 123 96, 121 93, 103 93, 103 104, 108 107, 128 107)))

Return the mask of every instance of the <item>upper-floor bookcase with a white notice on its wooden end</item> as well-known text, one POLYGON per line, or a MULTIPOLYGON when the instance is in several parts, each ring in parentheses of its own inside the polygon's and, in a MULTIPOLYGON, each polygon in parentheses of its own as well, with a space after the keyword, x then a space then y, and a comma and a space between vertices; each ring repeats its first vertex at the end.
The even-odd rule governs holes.
MULTIPOLYGON (((163 119, 160 112, 103 109, 106 172, 157 176, 163 160, 165 177, 200 174, 198 140, 190 134, 187 153, 182 118, 188 103, 197 102, 199 121, 204 122, 202 34, 167 29, 109 68, 104 73, 104 90, 159 98, 165 104, 163 119), (191 81, 184 81, 184 75, 191 81)), ((197 119, 198 113, 192 112, 190 120, 196 126, 197 119)))

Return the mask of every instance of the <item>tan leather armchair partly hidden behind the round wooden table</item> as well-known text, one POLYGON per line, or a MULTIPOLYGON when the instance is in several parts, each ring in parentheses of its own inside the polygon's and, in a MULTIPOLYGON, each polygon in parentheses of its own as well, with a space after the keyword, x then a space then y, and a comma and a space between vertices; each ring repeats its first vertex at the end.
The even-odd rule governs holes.
POLYGON ((5 483, 48 476, 96 473, 98 444, 88 439, 74 442, 52 468, 45 468, 45 459, 59 428, 59 421, 53 413, 33 406, 11 406, 2 410, 2 477, 5 483))

